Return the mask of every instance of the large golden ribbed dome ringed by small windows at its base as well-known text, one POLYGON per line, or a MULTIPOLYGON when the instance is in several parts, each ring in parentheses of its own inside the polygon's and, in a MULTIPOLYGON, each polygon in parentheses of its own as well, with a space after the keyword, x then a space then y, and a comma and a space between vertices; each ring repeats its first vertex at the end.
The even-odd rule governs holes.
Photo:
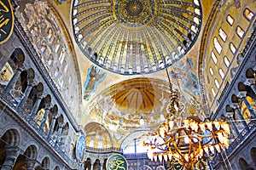
POLYGON ((96 65, 145 74, 188 53, 201 30, 201 12, 198 0, 77 0, 73 33, 96 65))

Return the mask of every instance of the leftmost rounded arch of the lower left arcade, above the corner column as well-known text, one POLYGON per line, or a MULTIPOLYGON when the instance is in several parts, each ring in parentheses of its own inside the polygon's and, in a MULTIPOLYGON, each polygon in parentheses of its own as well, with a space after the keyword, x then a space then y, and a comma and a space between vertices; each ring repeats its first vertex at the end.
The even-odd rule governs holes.
POLYGON ((15 128, 7 130, 1 139, 11 147, 20 145, 20 133, 15 128))

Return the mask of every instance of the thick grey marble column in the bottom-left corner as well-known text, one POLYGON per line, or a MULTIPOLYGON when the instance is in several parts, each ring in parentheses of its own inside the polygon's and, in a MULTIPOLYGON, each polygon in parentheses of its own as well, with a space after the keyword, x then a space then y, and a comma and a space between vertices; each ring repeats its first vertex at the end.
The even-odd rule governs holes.
POLYGON ((17 147, 9 147, 5 149, 5 160, 3 162, 3 165, 1 167, 1 170, 11 170, 13 169, 15 165, 15 161, 20 153, 19 149, 17 147))

